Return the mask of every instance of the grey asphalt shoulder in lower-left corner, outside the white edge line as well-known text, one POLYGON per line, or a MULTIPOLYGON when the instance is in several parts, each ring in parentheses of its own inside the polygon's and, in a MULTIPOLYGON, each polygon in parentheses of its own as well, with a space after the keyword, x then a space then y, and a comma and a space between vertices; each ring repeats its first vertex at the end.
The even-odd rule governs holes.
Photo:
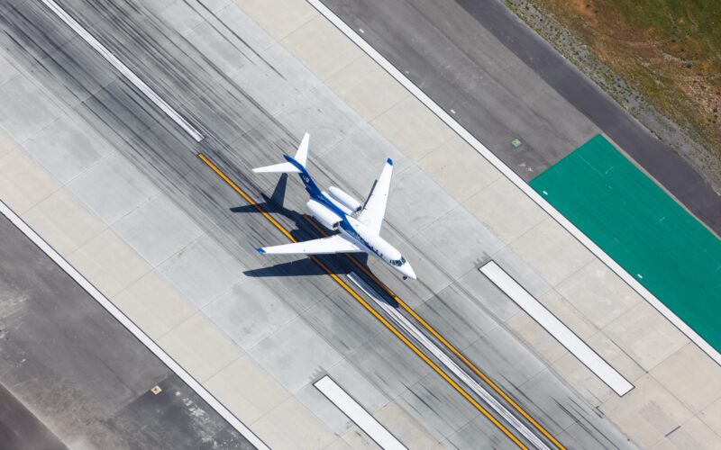
POLYGON ((253 448, 5 217, 0 337, 4 449, 253 448))

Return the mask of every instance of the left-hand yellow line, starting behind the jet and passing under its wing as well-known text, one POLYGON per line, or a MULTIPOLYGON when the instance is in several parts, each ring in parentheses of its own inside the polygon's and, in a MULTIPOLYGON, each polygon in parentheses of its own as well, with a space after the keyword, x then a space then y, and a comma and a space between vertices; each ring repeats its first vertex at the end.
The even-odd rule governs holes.
MULTIPOLYGON (((197 155, 197 157, 199 157, 205 163, 206 166, 210 167, 211 170, 213 170, 216 175, 220 176, 226 184, 231 186, 231 188, 233 188, 233 190, 236 193, 239 193, 242 196, 242 198, 245 199, 246 202, 251 204, 251 206, 253 208, 255 208, 257 211, 259 211, 263 215, 263 217, 265 217, 267 220, 269 220, 269 222, 272 223, 288 239, 290 239, 291 242, 297 242, 297 239, 293 238, 293 236, 290 234, 290 232, 285 227, 283 227, 280 223, 278 223, 278 220, 273 219, 273 217, 268 213, 268 211, 265 211, 264 209, 262 209, 260 207, 260 204, 258 204, 258 202, 255 202, 251 198, 250 195, 245 193, 245 191, 243 191, 238 186, 238 184, 235 184, 233 182, 233 180, 231 180, 228 177, 228 175, 225 175, 224 172, 220 168, 218 168, 218 166, 215 166, 213 164, 213 162, 210 159, 208 159, 208 157, 206 157, 202 153, 199 153, 197 155)), ((522 448, 524 450, 528 450, 528 447, 525 446, 524 443, 522 443, 516 436, 514 436, 513 433, 511 433, 508 430, 508 428, 506 428, 506 426, 504 426, 502 423, 500 423, 498 421, 498 419, 493 417, 493 415, 490 414, 488 412, 488 410, 483 408, 483 406, 478 401, 476 401, 473 397, 471 397, 468 392, 465 392, 465 390, 463 388, 461 388, 461 385, 454 382, 453 379, 450 376, 448 376, 448 374, 443 372, 443 370, 438 365, 436 365, 433 361, 431 361, 431 359, 428 356, 425 356, 424 353, 418 349, 418 347, 415 347, 415 344, 412 343, 408 338, 403 336, 403 334, 400 331, 398 331, 398 329, 396 327, 394 327, 390 322, 388 322, 388 320, 386 318, 381 316, 378 311, 374 310, 373 307, 370 306, 369 302, 366 302, 366 300, 363 299, 358 293, 356 293, 351 288, 351 286, 349 286, 347 283, 342 281, 341 277, 333 274, 333 271, 331 269, 329 269, 328 266, 325 266, 324 263, 320 259, 315 257, 314 255, 308 255, 308 257, 311 260, 313 260, 313 262, 316 265, 321 267, 326 274, 330 275, 331 278, 333 278, 333 281, 335 283, 339 284, 343 288, 343 290, 345 290, 345 292, 351 294, 351 297, 353 297, 353 299, 355 299, 357 302, 359 302, 363 306, 363 308, 368 310, 370 312, 370 314, 373 317, 375 317, 376 320, 379 320, 379 322, 382 323, 388 330, 390 330, 390 332, 393 333, 396 336, 396 338, 400 339, 401 342, 406 344, 406 347, 410 348, 415 353, 416 356, 418 356, 419 358, 421 358, 424 361, 424 363, 426 365, 429 365, 432 369, 434 369, 434 372, 436 374, 441 375, 441 377, 443 378, 443 380, 445 380, 446 383, 451 384, 451 386, 453 387, 453 389, 456 390, 456 392, 460 393, 464 399, 469 401, 471 405, 473 405, 477 410, 480 411, 481 414, 483 414, 483 416, 486 417, 486 419, 490 420, 491 423, 493 423, 499 430, 501 430, 504 435, 506 435, 510 440, 512 440, 514 442, 514 444, 516 444, 516 446, 518 446, 519 448, 522 448)))

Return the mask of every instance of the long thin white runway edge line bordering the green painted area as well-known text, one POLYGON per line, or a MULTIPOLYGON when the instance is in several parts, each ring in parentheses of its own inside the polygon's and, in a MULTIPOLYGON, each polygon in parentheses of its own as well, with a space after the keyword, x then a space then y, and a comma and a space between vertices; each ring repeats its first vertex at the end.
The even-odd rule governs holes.
POLYGON ((600 259, 609 269, 611 269, 616 275, 618 275, 626 284, 631 286, 632 289, 643 297, 646 302, 649 302, 656 311, 659 311, 663 317, 669 320, 681 333, 686 335, 687 338, 691 339, 704 353, 706 353, 711 359, 716 361, 716 364, 721 365, 721 353, 717 352, 714 347, 711 347, 704 338, 701 338, 696 331, 691 329, 689 325, 673 313, 666 305, 664 305, 659 299, 656 298, 651 291, 643 287, 643 284, 638 283, 636 279, 629 275, 623 267, 619 266, 612 257, 609 257, 601 247, 598 247, 588 236, 576 228, 570 220, 566 219, 561 212, 552 207, 551 203, 546 202, 541 194, 536 193, 534 189, 526 184, 525 181, 514 172, 509 166, 501 161, 496 155, 493 154, 485 145, 483 145, 479 139, 476 139, 469 130, 466 130, 461 126, 460 123, 455 121, 448 112, 445 112, 441 106, 435 103, 431 97, 425 94, 418 86, 404 76, 397 67, 384 58, 378 50, 374 49, 368 42, 363 40, 360 35, 355 32, 351 27, 342 21, 340 17, 335 15, 333 11, 328 9, 320 0, 306 0, 311 4, 320 14, 333 23, 335 27, 345 34, 348 39, 352 40, 360 49, 362 49, 370 58, 376 61, 380 67, 382 67, 388 75, 393 76, 398 83, 403 85, 408 92, 413 94, 421 103, 434 112, 434 114, 445 122, 453 131, 458 134, 461 139, 465 140, 472 148, 474 148, 482 157, 485 157, 490 164, 495 166, 507 179, 516 184, 516 187, 521 189, 526 196, 528 196, 534 203, 540 206, 543 211, 546 211, 553 220, 566 229, 571 236, 576 238, 581 245, 588 248, 598 259, 600 259))

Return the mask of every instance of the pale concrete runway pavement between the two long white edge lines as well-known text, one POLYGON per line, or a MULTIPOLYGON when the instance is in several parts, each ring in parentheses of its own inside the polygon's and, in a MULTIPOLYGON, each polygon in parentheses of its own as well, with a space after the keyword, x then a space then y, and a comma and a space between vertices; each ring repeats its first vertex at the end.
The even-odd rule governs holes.
MULTIPOLYGON (((23 6, 31 9, 23 14, 42 17, 34 4, 23 6)), ((385 233, 414 262, 422 283, 403 284, 371 262, 384 282, 561 442, 628 445, 595 409, 608 405, 618 418, 625 398, 613 399, 572 356, 554 349, 476 267, 493 257, 529 290, 547 293, 552 311, 570 316, 578 315, 574 308, 581 298, 572 287, 589 280, 598 283, 599 296, 610 299, 591 303, 592 316, 618 309, 609 286, 634 304, 640 301, 422 104, 382 71, 369 69, 374 66, 367 57, 306 3, 138 4, 122 15, 114 4, 103 5, 110 13, 65 6, 207 139, 200 145, 188 139, 80 42, 45 51, 38 61, 27 51, 41 40, 33 33, 59 26, 38 19, 23 30, 25 45, 7 42, 4 55, 14 76, 0 86, 0 95, 18 100, 0 122, 10 142, 0 163, 0 194, 23 214, 50 208, 56 195, 70 196, 61 215, 72 220, 43 223, 38 214, 32 225, 53 242, 67 241, 64 251, 72 263, 270 446, 365 442, 313 388, 324 373, 406 446, 510 444, 327 277, 303 262, 256 255, 254 247, 279 243, 282 236, 243 208, 238 194, 195 156, 202 151, 212 157, 260 200, 278 178, 249 176, 248 169, 276 161, 305 130, 313 137, 318 181, 333 180, 358 197, 378 175, 376 162, 397 161, 385 233), (87 85, 78 67, 106 83, 87 85), (384 94, 368 94, 367 85, 384 94), (37 103, 54 106, 44 117, 23 107, 37 103), (73 123, 62 128, 71 129, 70 143, 58 139, 51 155, 27 149, 35 135, 61 120, 73 123), (83 139, 93 144, 78 146, 83 139), (96 156, 83 159, 78 147, 92 147, 96 156), (445 152, 468 158, 446 164, 445 152), (475 176, 478 171, 486 176, 475 176), (72 175, 59 181, 63 173, 72 175), (77 223, 88 231, 77 233, 77 223), (246 275, 275 263, 283 266, 260 274, 266 276, 246 275), (564 284, 571 286, 568 296, 553 303, 564 284), (162 300, 148 302, 155 292, 162 300), (539 346, 543 339, 547 347, 539 346), (621 405, 619 414, 614 404, 621 405)), ((7 14, 4 20, 20 18, 7 14)), ((304 202, 296 182, 289 181, 284 205, 299 211, 304 202)), ((275 216, 298 228, 300 237, 313 233, 297 216, 275 216)), ((628 309, 620 310, 617 320, 625 320, 628 309)), ((653 310, 644 312, 655 317, 653 310)), ((587 320, 580 315, 579 323, 587 320)), ((589 340, 635 383, 644 370, 625 350, 637 346, 643 354, 655 347, 659 331, 626 334, 626 326, 617 325, 611 341, 607 335, 615 323, 591 324, 589 340)), ((663 329, 683 347, 674 331, 663 329)), ((662 348, 657 357, 663 361, 680 347, 662 348)), ((689 417, 676 419, 686 424, 689 417)), ((648 420, 653 428, 660 418, 648 420)))

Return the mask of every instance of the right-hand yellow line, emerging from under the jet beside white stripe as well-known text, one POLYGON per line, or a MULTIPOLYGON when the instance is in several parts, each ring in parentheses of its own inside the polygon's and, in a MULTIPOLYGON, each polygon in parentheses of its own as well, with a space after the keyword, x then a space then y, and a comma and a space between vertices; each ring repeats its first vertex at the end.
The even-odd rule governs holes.
MULTIPOLYGON (((324 229, 321 229, 320 226, 317 223, 315 223, 315 220, 309 218, 308 216, 306 216, 306 214, 303 215, 303 218, 308 223, 310 223, 321 235, 328 236, 328 233, 326 233, 324 231, 324 229)), ((434 329, 428 322, 426 322, 421 316, 419 316, 418 313, 415 312, 415 310, 413 308, 408 306, 408 304, 406 302, 404 302, 403 299, 398 297, 396 295, 396 293, 394 293, 386 284, 381 282, 376 275, 373 275, 373 273, 370 272, 370 270, 368 270, 367 267, 360 264, 360 261, 358 261, 358 259, 356 259, 355 257, 353 257, 350 254, 346 254, 345 256, 348 257, 348 259, 351 260, 351 263, 353 263, 355 266, 357 266, 363 272, 363 274, 368 275, 375 284, 378 284, 378 286, 383 291, 388 293, 388 295, 390 295, 390 297, 393 300, 398 302, 398 304, 401 306, 401 308, 406 310, 418 323, 423 325, 424 329, 427 329, 434 336, 434 338, 441 341, 443 346, 445 346, 446 348, 451 350, 452 354, 455 355, 456 357, 458 357, 463 362, 463 364, 469 366, 470 370, 472 370, 474 374, 477 374, 479 376, 479 378, 481 380, 483 380, 485 383, 487 383, 491 387, 491 389, 493 389, 498 395, 501 396, 501 398, 503 398, 503 400, 507 401, 507 403, 510 404, 514 408, 514 410, 518 411, 518 413, 521 414, 521 416, 523 416, 526 420, 528 420, 537 430, 539 430, 543 434, 543 436, 547 437, 553 443, 554 446, 558 447, 559 450, 565 450, 566 447, 563 446, 561 444, 561 442, 558 441, 558 439, 553 437, 553 435, 551 433, 549 433, 548 430, 543 428, 543 426, 540 423, 538 423, 538 421, 535 420, 533 418, 533 416, 531 416, 523 408, 521 408, 521 406, 518 403, 516 403, 516 401, 514 401, 505 391, 503 391, 496 383, 494 383, 493 380, 491 380, 487 374, 483 373, 483 371, 481 371, 476 365, 474 365, 470 361, 470 359, 468 359, 466 356, 464 356, 461 353, 461 351, 459 351, 456 347, 454 347, 451 344, 451 342, 449 342, 446 338, 443 338, 443 335, 441 335, 441 333, 436 331, 436 329, 434 329)))

